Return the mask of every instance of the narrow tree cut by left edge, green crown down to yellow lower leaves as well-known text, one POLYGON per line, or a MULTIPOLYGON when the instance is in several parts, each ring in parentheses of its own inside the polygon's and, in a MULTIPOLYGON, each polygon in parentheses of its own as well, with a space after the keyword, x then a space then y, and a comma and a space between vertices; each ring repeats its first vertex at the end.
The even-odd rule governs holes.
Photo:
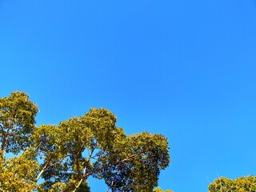
POLYGON ((34 175, 39 168, 29 153, 30 135, 35 129, 38 107, 26 93, 14 92, 0 98, 0 190, 28 191, 34 189, 34 175), (22 155, 6 158, 6 153, 22 155))

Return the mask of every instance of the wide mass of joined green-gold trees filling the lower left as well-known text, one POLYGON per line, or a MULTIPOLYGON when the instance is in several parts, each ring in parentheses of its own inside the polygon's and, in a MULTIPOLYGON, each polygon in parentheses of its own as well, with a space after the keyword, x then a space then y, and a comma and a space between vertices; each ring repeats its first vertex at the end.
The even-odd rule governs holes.
POLYGON ((26 93, 0 98, 2 191, 90 191, 89 177, 103 179, 107 191, 152 191, 170 163, 167 138, 127 136, 105 108, 38 127, 37 112, 26 93))

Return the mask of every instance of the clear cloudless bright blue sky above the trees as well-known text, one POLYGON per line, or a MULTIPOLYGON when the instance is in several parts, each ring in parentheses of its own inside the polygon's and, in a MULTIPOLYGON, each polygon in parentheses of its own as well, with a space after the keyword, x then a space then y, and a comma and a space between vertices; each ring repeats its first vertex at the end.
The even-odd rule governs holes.
POLYGON ((166 135, 164 190, 256 174, 254 0, 0 0, 0 78, 37 125, 106 107, 126 134, 166 135))

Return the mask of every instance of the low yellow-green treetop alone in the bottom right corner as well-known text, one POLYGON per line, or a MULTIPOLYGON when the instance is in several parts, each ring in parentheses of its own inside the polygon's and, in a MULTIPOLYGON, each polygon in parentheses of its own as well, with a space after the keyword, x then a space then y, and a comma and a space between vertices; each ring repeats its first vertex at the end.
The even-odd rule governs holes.
POLYGON ((248 176, 232 180, 217 178, 208 187, 209 192, 254 192, 256 191, 256 177, 248 176))

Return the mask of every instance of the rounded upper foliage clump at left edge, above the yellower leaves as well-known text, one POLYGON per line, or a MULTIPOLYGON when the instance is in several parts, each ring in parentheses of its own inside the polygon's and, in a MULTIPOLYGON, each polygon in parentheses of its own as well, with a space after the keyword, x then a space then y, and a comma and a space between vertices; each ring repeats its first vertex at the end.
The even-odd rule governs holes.
POLYGON ((9 98, 0 98, 0 150, 18 154, 29 146, 37 113, 38 107, 26 93, 15 91, 9 98))

